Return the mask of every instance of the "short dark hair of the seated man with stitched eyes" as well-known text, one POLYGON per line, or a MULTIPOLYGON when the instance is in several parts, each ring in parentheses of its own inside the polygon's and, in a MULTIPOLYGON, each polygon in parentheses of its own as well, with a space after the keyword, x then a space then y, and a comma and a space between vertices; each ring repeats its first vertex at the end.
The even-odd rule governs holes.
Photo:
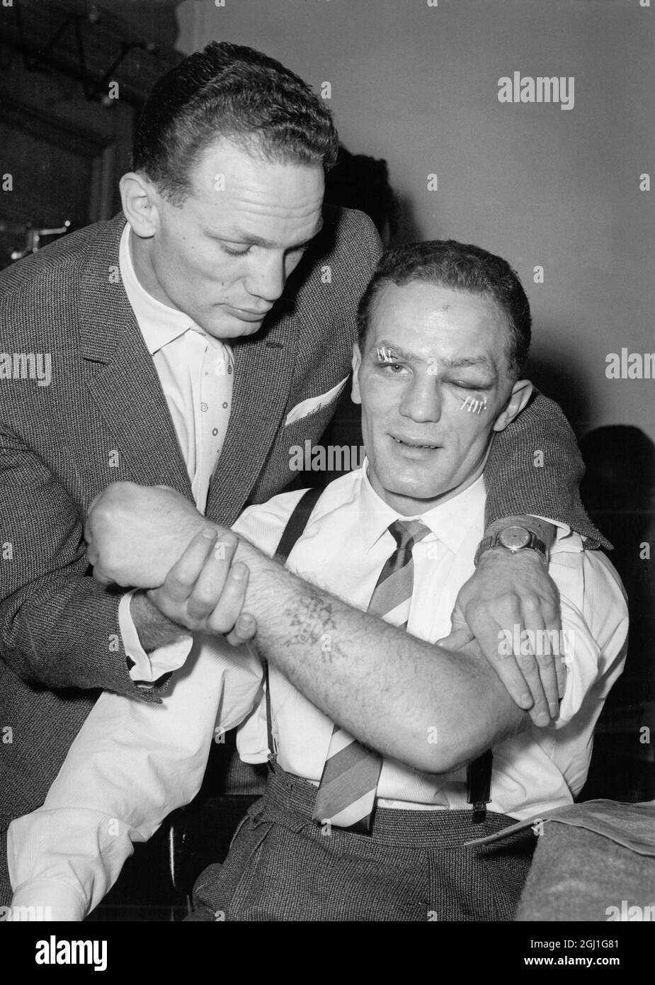
POLYGON ((521 375, 530 350, 530 304, 517 274, 506 260, 480 246, 454 239, 428 239, 387 250, 380 259, 358 309, 358 335, 363 349, 375 299, 387 285, 404 287, 424 282, 495 301, 509 329, 509 374, 521 375))

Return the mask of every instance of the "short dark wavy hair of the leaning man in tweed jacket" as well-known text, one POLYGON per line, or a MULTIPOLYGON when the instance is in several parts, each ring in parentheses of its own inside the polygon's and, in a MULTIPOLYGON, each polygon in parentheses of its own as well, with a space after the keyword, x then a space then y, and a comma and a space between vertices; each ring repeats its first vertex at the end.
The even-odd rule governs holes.
POLYGON ((332 114, 301 79, 253 48, 212 41, 156 83, 137 124, 132 167, 180 205, 200 155, 222 138, 269 161, 337 160, 332 114))

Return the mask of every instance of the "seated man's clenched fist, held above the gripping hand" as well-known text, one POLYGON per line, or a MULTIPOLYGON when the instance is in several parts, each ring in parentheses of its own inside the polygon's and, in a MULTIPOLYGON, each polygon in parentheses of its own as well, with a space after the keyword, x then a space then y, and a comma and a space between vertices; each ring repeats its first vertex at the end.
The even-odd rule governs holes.
POLYGON ((113 483, 94 499, 85 526, 94 577, 103 584, 157 588, 189 541, 208 526, 175 490, 113 483))

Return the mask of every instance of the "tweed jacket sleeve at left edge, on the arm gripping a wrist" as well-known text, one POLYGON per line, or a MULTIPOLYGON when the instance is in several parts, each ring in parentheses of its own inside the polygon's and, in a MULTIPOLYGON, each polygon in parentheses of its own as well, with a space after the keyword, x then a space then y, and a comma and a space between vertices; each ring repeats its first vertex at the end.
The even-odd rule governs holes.
POLYGON ((0 427, 4 661, 23 680, 48 688, 156 700, 157 686, 138 686, 128 673, 118 628, 122 594, 91 576, 78 506, 33 449, 0 427))

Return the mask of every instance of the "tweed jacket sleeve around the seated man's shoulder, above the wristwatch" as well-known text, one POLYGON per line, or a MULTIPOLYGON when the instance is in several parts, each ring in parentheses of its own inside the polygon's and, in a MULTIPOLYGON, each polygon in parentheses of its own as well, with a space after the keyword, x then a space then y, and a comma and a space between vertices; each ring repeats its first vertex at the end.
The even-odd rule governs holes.
POLYGON ((612 548, 580 500, 584 464, 575 435, 553 400, 537 393, 515 420, 495 435, 485 469, 489 526, 503 516, 543 516, 567 524, 587 547, 612 548))

